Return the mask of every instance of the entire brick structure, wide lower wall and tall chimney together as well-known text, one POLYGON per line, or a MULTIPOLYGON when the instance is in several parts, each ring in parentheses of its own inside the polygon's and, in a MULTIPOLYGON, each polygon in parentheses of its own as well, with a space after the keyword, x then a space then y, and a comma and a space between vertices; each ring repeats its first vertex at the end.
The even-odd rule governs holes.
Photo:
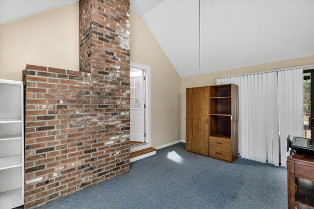
POLYGON ((26 66, 25 208, 130 169, 130 2, 79 4, 81 72, 26 66))

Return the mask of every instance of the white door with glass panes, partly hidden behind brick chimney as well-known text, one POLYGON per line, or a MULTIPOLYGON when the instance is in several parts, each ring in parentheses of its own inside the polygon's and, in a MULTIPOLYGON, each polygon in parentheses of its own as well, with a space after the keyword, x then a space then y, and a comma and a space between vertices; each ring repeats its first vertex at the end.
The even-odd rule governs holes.
POLYGON ((131 68, 131 141, 145 142, 144 71, 131 68))

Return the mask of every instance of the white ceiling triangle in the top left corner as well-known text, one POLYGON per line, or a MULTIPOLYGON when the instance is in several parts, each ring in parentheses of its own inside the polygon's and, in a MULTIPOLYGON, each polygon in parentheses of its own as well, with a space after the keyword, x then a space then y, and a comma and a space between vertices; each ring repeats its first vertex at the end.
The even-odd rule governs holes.
POLYGON ((0 0, 0 24, 52 10, 78 0, 0 0))

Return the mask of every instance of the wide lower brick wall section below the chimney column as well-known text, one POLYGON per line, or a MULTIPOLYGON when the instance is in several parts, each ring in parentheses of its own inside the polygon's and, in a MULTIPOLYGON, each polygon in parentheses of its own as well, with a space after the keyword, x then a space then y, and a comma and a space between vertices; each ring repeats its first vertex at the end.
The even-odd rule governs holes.
POLYGON ((129 170, 128 78, 105 77, 27 65, 26 208, 129 170))

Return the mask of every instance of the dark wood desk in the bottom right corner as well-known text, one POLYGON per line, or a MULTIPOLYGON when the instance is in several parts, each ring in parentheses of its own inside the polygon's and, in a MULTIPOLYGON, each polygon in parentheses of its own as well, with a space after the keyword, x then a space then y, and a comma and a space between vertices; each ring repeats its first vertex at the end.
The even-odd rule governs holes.
POLYGON ((287 157, 288 209, 314 209, 314 157, 287 157))

